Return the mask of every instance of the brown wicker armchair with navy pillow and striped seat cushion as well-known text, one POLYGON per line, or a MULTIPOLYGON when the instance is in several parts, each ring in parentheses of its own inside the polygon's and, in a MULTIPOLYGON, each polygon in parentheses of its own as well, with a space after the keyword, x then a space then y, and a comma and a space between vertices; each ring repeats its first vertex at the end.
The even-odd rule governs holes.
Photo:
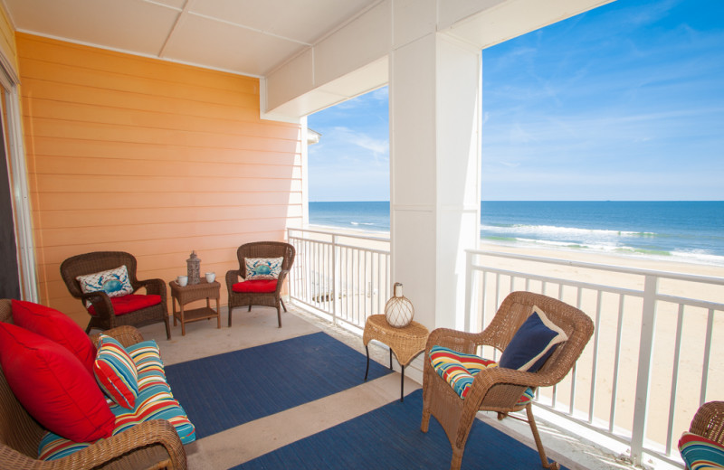
POLYGON ((538 436, 533 418, 533 409, 518 405, 520 396, 531 387, 548 387, 557 384, 571 370, 578 356, 593 334, 591 319, 575 307, 556 299, 529 292, 513 292, 505 298, 492 319, 491 324, 479 334, 469 334, 439 328, 430 334, 424 354, 423 379, 423 420, 421 429, 427 432, 430 415, 437 418, 445 430, 452 446, 451 469, 462 464, 465 442, 472 428, 478 410, 497 411, 498 418, 508 416, 512 411, 526 410, 528 422, 538 447, 540 461, 546 468, 559 468, 556 462, 548 463, 546 451, 538 436), (491 368, 479 372, 463 400, 452 390, 430 364, 430 349, 437 344, 459 353, 477 353, 478 346, 490 345, 504 351, 518 328, 531 314, 533 305, 538 305, 548 318, 561 327, 568 340, 557 346, 548 361, 536 373, 504 368, 491 368))

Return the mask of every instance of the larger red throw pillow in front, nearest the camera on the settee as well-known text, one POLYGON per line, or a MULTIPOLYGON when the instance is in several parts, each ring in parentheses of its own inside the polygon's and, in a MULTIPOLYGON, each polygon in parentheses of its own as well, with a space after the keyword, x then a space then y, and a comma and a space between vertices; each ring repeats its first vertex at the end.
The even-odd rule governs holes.
POLYGON ((62 345, 0 323, 0 364, 17 400, 44 428, 76 442, 110 437, 115 417, 103 392, 62 345))

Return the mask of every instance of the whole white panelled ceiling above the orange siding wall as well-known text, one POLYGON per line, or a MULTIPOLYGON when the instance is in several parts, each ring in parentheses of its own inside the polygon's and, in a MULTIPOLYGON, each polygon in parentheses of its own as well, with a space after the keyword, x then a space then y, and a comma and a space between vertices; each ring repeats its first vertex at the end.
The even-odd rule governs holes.
POLYGON ((16 30, 263 77, 379 0, 2 0, 16 30))

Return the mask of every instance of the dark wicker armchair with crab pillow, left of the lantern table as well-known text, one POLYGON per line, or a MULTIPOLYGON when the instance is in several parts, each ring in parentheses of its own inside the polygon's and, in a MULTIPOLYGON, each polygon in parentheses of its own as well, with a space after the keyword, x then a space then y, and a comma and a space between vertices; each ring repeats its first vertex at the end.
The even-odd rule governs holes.
POLYGON ((144 326, 164 322, 166 324, 167 339, 171 339, 171 327, 168 324, 168 308, 166 283, 163 279, 138 280, 136 278, 136 258, 124 251, 94 251, 68 258, 61 264, 61 276, 65 286, 71 292, 71 296, 81 300, 83 308, 88 300, 95 308, 96 315, 90 315, 90 321, 86 333, 93 328, 110 330, 121 324, 131 326, 144 326), (124 315, 115 315, 110 297, 105 292, 94 292, 84 294, 81 290, 81 283, 76 277, 106 271, 119 266, 126 265, 129 271, 129 281, 136 292, 141 287, 146 287, 146 292, 152 295, 161 296, 161 303, 138 309, 124 315))

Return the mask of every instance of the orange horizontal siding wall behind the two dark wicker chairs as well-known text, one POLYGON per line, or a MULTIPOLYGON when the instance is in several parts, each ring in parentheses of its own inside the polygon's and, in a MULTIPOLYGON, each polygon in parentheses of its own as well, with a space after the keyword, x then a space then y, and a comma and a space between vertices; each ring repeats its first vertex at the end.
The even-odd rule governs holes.
POLYGON ((43 304, 87 323, 72 255, 129 251, 168 281, 192 249, 225 304, 238 246, 300 223, 300 127, 259 118, 259 80, 16 37, 43 304))

